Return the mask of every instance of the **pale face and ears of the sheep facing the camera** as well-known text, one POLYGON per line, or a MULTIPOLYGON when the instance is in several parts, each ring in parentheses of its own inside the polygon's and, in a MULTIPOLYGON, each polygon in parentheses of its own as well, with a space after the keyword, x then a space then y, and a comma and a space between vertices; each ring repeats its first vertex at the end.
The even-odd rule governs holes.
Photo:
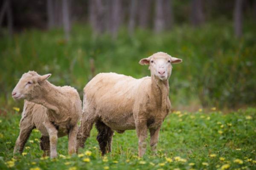
POLYGON ((162 81, 169 79, 172 74, 172 64, 182 62, 182 59, 171 57, 167 53, 158 52, 140 60, 141 65, 149 65, 151 76, 162 81))

